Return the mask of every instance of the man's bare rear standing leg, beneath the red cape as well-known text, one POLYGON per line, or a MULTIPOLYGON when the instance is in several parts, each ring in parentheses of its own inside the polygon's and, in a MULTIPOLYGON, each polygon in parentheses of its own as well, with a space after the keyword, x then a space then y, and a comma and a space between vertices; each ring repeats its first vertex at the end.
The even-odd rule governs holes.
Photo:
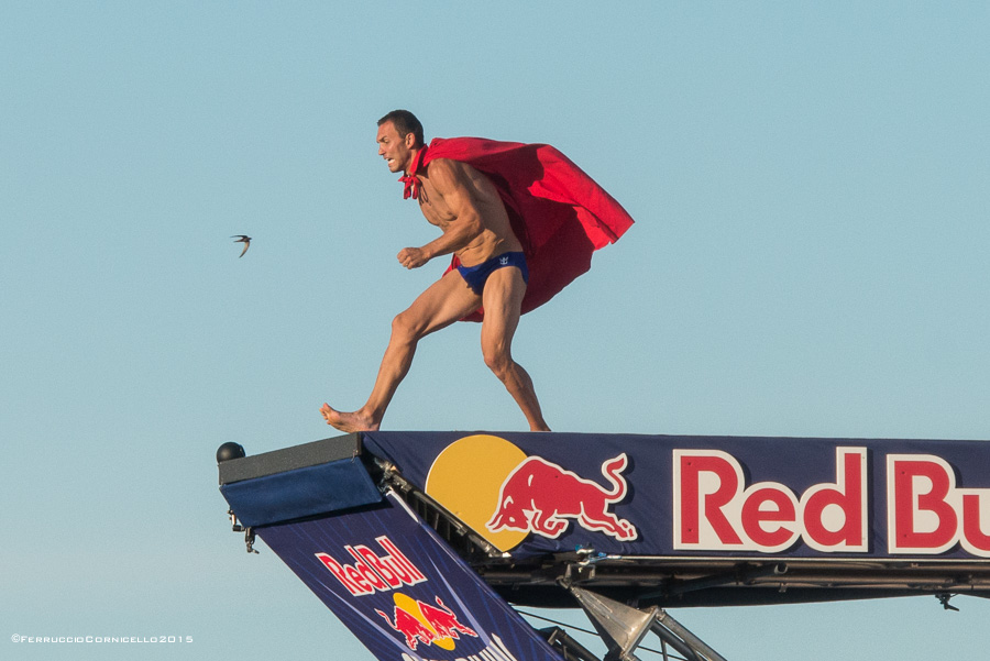
POLYGON ((482 353, 485 364, 505 384, 506 389, 529 422, 531 431, 550 431, 540 403, 532 387, 532 379, 513 360, 513 335, 519 324, 526 283, 515 266, 499 268, 488 276, 482 300, 485 318, 482 321, 482 353))

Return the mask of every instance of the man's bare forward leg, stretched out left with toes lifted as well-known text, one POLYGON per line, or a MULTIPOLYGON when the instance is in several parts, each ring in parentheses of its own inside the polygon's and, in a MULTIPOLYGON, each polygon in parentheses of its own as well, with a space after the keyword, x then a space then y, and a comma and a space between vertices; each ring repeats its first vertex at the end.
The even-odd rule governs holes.
POLYGON ((343 412, 324 404, 320 412, 327 423, 345 432, 378 429, 392 396, 409 372, 419 340, 462 319, 480 306, 481 297, 468 287, 455 271, 430 285, 393 320, 392 338, 385 349, 375 387, 365 405, 354 412, 343 412))

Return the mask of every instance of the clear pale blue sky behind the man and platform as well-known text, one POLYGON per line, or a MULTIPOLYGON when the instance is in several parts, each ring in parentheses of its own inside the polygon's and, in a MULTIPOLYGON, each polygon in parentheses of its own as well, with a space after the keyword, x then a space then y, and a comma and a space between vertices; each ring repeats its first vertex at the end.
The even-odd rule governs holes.
MULTIPOLYGON (((637 220, 520 327, 556 429, 990 438, 985 2, 18 1, 0 62, 4 659, 371 659, 244 552, 213 453, 333 436, 442 271, 395 260, 436 234, 394 108, 553 144, 637 220)), ((469 324, 385 425, 525 429, 469 324)), ((956 605, 673 615, 734 661, 986 654, 956 605)))

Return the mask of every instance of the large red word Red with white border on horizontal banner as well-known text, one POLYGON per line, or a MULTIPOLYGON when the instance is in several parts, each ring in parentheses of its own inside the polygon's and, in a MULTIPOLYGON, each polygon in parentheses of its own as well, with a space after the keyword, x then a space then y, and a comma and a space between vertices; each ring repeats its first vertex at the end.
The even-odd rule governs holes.
POLYGON ((801 539, 817 551, 867 551, 866 452, 836 448, 836 481, 799 499, 778 482, 745 487, 727 452, 674 450, 674 549, 777 553, 801 539))

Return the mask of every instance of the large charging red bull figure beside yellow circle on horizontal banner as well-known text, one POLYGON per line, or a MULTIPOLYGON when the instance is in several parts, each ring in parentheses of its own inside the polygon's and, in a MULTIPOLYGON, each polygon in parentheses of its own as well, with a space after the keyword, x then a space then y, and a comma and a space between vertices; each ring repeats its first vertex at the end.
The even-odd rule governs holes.
POLYGON ((609 511, 626 497, 622 473, 628 464, 625 453, 602 464, 602 475, 612 485, 605 489, 541 456, 530 456, 502 484, 498 508, 485 528, 492 532, 508 528, 557 539, 568 529, 568 519, 573 519, 585 530, 604 532, 620 541, 635 540, 639 535, 636 527, 609 511))

